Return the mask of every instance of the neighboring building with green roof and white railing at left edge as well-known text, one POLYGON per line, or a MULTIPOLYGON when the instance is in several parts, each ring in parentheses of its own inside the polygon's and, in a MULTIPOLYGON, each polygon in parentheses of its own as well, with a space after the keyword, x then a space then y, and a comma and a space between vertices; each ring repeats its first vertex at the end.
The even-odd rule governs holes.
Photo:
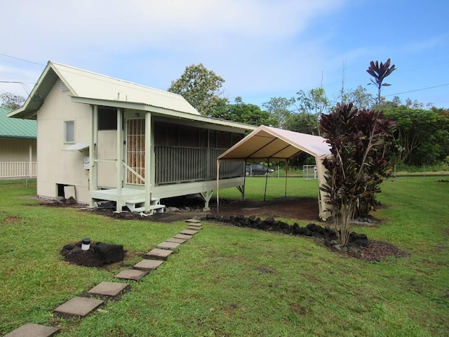
POLYGON ((0 107, 0 179, 36 176, 36 121, 8 118, 0 107))

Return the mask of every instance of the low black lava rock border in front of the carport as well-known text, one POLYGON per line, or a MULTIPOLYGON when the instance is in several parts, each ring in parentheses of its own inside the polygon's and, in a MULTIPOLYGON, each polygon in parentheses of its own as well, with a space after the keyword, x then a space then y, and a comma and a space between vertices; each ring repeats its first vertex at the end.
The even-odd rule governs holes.
MULTIPOLYGON (((288 223, 284 223, 283 221, 274 220, 271 216, 262 220, 260 217, 256 216, 248 216, 248 218, 246 218, 245 216, 208 214, 206 220, 215 220, 236 227, 248 227, 256 230, 265 230, 267 232, 281 232, 283 234, 316 237, 317 239, 323 239, 326 246, 333 247, 337 251, 348 251, 348 247, 342 247, 337 243, 337 233, 329 226, 322 227, 314 223, 309 223, 306 227, 300 227, 297 223, 288 225, 288 223)), ((349 247, 367 247, 369 244, 370 242, 365 234, 351 232, 349 235, 349 247)))

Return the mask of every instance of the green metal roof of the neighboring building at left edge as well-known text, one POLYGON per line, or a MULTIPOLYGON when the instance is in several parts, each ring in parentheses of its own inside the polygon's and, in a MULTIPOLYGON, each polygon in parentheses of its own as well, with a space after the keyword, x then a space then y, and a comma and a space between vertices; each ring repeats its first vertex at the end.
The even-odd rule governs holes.
POLYGON ((0 107, 0 138, 37 138, 37 122, 30 119, 8 118, 11 110, 0 107))

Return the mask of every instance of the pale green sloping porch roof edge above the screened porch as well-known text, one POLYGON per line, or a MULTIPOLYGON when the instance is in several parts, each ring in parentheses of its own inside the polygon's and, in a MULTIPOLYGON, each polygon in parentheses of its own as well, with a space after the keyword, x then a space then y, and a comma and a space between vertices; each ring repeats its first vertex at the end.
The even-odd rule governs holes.
POLYGON ((152 105, 147 105, 145 103, 134 103, 134 102, 124 102, 122 100, 100 100, 97 98, 86 98, 86 97, 78 97, 78 96, 72 96, 72 102, 74 103, 84 103, 84 104, 90 104, 90 105, 104 105, 108 107, 121 107, 123 109, 131 109, 131 110, 141 110, 141 111, 147 111, 147 112, 154 112, 156 114, 169 116, 169 117, 175 117, 179 119, 189 119, 192 121, 201 121, 203 123, 212 123, 217 124, 221 126, 229 126, 232 128, 240 128, 244 131, 253 131, 257 127, 243 124, 243 123, 236 123, 235 121, 225 121, 223 119, 216 119, 216 118, 210 118, 201 116, 198 114, 189 114, 187 112, 180 112, 175 110, 168 110, 164 109, 163 107, 154 107, 152 105))

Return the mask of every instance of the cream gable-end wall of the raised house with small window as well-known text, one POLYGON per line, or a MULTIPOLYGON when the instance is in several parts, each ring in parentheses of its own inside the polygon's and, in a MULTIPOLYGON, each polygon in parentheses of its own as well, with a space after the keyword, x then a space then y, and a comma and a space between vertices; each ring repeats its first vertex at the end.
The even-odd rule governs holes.
POLYGON ((84 170, 83 152, 63 151, 65 121, 74 121, 74 143, 90 139, 90 107, 72 103, 69 92, 61 91, 58 79, 37 113, 37 194, 58 197, 57 184, 74 185, 79 202, 90 201, 88 174, 84 170))

